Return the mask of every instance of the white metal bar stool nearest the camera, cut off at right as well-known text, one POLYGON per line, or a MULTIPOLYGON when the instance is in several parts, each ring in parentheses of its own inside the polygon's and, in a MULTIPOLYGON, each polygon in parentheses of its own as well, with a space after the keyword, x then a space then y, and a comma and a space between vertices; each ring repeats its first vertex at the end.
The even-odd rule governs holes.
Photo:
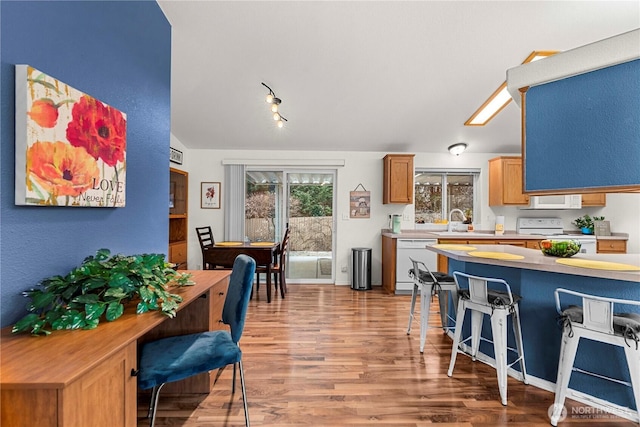
POLYGON ((558 425, 573 371, 632 387, 640 420, 640 301, 605 298, 562 288, 556 289, 555 299, 556 310, 563 321, 563 331, 551 425, 558 425), (561 294, 565 294, 564 309, 560 301, 561 294), (566 300, 571 298, 569 295, 581 299, 582 306, 566 306, 566 300), (616 313, 616 306, 619 307, 621 304, 636 306, 639 309, 636 313, 616 313), (631 383, 575 368, 574 361, 580 338, 624 348, 631 383))

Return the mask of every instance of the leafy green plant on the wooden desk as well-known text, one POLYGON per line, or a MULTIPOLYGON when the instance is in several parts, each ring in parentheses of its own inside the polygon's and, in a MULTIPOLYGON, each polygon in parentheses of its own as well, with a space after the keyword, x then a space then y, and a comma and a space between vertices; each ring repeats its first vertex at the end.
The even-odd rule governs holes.
POLYGON ((23 292, 31 299, 29 314, 12 332, 49 335, 52 330, 94 329, 103 315, 114 321, 124 313, 125 303, 138 299, 137 314, 159 310, 175 317, 182 297, 170 293, 169 287, 193 282, 164 259, 162 254, 111 256, 108 249, 100 249, 66 276, 43 279, 23 292))

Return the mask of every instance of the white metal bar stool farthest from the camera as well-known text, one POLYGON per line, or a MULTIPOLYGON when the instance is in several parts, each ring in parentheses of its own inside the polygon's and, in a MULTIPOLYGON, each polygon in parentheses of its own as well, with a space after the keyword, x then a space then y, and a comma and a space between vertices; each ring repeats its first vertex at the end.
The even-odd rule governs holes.
MULTIPOLYGON (((413 323, 416 308, 416 296, 420 289, 420 353, 424 353, 424 345, 427 341, 427 329, 429 327, 429 311, 431 308, 431 296, 438 294, 440 303, 440 322, 442 329, 446 332, 449 328, 448 301, 450 292, 454 306, 458 304, 458 286, 453 277, 444 273, 432 273, 426 264, 409 257, 413 263, 413 268, 409 270, 409 276, 413 279, 413 292, 411 293, 411 308, 409 310, 409 326, 407 335, 411 333, 411 323, 413 323), (421 268, 422 267, 422 268, 421 268)), ((451 319, 455 320, 455 319, 451 319)))

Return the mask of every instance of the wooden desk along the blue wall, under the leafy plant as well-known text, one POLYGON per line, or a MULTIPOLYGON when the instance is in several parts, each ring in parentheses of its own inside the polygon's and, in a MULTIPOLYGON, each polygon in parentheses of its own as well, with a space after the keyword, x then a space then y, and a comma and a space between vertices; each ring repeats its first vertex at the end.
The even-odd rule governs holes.
MULTIPOLYGON (((230 271, 186 271, 194 286, 170 319, 137 315, 135 304, 96 329, 55 331, 47 337, 0 331, 0 425, 12 427, 135 427, 138 346, 162 336, 221 329, 230 271)), ((167 384, 175 393, 208 393, 211 374, 167 384)))

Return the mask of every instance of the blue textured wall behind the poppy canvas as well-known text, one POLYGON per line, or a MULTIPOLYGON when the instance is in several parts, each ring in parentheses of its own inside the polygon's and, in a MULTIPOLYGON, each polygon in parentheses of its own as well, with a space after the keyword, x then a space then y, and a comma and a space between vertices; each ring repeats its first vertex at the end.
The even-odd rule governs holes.
POLYGON ((171 26, 155 1, 0 2, 0 325, 21 292, 100 248, 168 247, 171 26), (14 205, 15 64, 31 65, 127 115, 124 208, 14 205))

